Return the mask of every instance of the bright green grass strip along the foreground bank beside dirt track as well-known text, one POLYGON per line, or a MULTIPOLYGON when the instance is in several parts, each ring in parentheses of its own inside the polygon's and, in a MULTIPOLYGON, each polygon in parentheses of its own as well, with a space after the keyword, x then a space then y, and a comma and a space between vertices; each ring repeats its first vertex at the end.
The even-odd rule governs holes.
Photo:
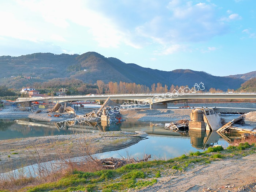
POLYGON ((156 178, 166 175, 176 175, 186 171, 187 167, 218 161, 221 158, 239 158, 256 153, 248 143, 240 143, 237 147, 228 147, 223 151, 222 146, 209 147, 207 151, 191 152, 167 161, 148 161, 128 164, 118 169, 101 170, 96 172, 74 171, 56 182, 50 182, 36 187, 27 187, 28 192, 67 192, 67 191, 126 191, 139 189, 157 182, 156 178), (240 150, 239 148, 249 148, 240 150))

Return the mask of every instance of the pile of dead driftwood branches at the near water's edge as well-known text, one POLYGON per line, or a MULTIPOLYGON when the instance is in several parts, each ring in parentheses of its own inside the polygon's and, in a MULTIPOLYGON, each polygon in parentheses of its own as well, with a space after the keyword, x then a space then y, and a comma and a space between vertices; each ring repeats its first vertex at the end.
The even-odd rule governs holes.
POLYGON ((125 158, 118 159, 118 158, 109 157, 105 159, 99 159, 97 161, 101 166, 105 168, 114 169, 114 168, 122 167, 124 165, 131 164, 131 163, 139 163, 142 161, 145 162, 145 161, 148 161, 148 159, 150 158, 151 158, 151 155, 145 154, 143 159, 138 159, 137 157, 137 160, 135 160, 133 157, 129 159, 125 159, 125 158))

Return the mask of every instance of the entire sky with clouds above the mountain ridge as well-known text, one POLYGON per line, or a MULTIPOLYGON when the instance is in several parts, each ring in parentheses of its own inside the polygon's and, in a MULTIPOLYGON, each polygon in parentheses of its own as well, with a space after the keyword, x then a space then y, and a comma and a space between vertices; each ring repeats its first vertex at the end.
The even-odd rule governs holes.
POLYGON ((256 71, 256 0, 0 0, 0 56, 95 51, 165 71, 256 71))

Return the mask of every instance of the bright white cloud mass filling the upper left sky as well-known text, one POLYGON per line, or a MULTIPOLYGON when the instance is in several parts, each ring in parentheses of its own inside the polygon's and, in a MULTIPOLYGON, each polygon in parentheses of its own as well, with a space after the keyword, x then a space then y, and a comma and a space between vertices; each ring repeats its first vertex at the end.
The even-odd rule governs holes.
MULTIPOLYGON (((41 19, 41 22, 44 22, 44 25, 48 29, 42 30, 42 26, 34 26, 32 29, 29 29, 29 26, 33 26, 31 21, 22 22, 19 20, 18 15, 13 15, 13 17, 5 16, 5 18, 13 18, 12 23, 15 23, 14 26, 25 29, 24 33, 18 35, 11 35, 10 31, 6 31, 4 35, 9 37, 24 39, 25 34, 27 37, 35 37, 35 40, 39 40, 38 35, 40 34, 40 39, 42 38, 45 41, 67 41, 68 34, 65 35, 55 35, 58 32, 64 33, 71 25, 78 25, 83 27, 85 34, 91 34, 95 41, 98 42, 98 45, 101 47, 115 47, 117 48, 120 44, 126 44, 132 46, 133 48, 140 48, 140 45, 136 42, 131 41, 131 33, 129 30, 123 30, 116 25, 116 22, 108 15, 104 15, 97 10, 90 8, 90 1, 82 0, 44 0, 44 1, 16 1, 20 7, 20 10, 26 10, 28 15, 30 15, 30 20, 33 17, 37 17, 38 22, 41 19), (14 22, 15 21, 15 22, 14 22), (29 23, 30 22, 30 23, 29 23), (16 25, 19 24, 20 25, 16 25), (32 25, 31 25, 32 24, 32 25), (27 25, 27 27, 26 27, 27 25), (51 26, 52 25, 52 26, 51 26), (23 27, 21 27, 23 26, 23 27), (37 35, 33 30, 38 30, 37 35), (63 32, 64 31, 64 32, 63 32), (31 32, 31 33, 30 33, 31 32), (52 34, 55 33, 55 34, 52 34)), ((2 18, 2 17, 1 17, 2 18)), ((23 19, 24 20, 24 19, 23 19)), ((10 22, 8 19, 7 22, 10 22)), ((74 29, 75 30, 75 29, 74 29)), ((76 31, 72 31, 73 35, 76 31)), ((3 35, 3 34, 2 34, 3 35)), ((29 39, 25 38, 25 39, 29 39)))

